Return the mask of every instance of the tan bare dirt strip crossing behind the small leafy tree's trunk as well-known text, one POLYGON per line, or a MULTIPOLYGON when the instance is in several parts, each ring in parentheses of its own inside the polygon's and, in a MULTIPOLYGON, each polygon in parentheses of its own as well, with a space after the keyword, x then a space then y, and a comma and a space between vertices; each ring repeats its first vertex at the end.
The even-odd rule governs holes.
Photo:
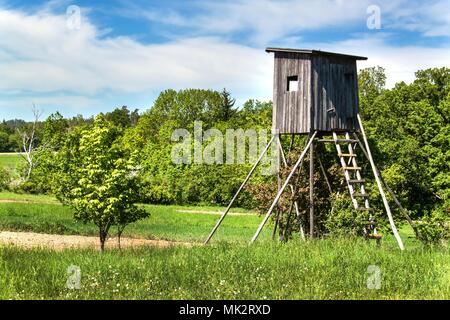
MULTIPOLYGON (((172 246, 192 246, 184 242, 172 242, 165 240, 147 240, 122 238, 122 248, 130 247, 158 247, 168 248, 172 246)), ((97 237, 66 236, 55 234, 41 234, 31 232, 9 232, 0 231, 0 245, 15 245, 22 248, 48 248, 53 250, 64 250, 71 248, 100 248, 97 237)), ((116 248, 117 239, 110 238, 106 242, 106 248, 116 248)))

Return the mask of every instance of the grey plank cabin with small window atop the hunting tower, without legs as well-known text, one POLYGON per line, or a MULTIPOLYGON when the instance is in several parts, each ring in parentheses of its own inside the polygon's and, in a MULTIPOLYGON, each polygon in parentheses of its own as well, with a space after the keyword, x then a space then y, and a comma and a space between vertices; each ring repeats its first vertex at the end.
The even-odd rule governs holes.
POLYGON ((358 131, 356 62, 367 58, 304 49, 266 52, 275 54, 274 132, 358 131))

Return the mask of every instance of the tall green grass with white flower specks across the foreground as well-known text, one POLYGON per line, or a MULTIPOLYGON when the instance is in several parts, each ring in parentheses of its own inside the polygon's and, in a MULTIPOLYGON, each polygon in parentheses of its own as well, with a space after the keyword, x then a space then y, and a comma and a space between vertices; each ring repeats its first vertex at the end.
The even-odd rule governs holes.
POLYGON ((0 248, 1 299, 449 299, 446 249, 322 240, 53 252, 0 248), (66 288, 71 265, 81 289, 66 288), (381 288, 368 289, 368 266, 381 288))

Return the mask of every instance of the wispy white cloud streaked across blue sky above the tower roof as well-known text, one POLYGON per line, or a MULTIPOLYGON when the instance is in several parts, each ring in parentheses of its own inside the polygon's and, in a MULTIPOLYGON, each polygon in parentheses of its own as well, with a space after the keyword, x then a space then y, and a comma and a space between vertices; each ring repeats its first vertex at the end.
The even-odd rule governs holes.
POLYGON ((231 0, 195 1, 195 13, 127 5, 122 14, 184 28, 190 34, 247 34, 246 41, 266 45, 299 32, 348 27, 366 28, 367 8, 380 8, 383 29, 410 30, 425 36, 450 36, 448 0, 231 0))

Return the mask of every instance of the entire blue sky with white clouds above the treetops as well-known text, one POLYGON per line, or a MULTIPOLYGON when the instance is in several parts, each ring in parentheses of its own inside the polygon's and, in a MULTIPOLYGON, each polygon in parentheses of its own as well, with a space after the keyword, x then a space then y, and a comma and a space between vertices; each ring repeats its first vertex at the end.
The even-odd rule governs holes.
POLYGON ((268 100, 267 46, 367 56, 393 86, 449 67, 449 31, 448 0, 0 0, 0 119, 146 110, 168 88, 268 100))

